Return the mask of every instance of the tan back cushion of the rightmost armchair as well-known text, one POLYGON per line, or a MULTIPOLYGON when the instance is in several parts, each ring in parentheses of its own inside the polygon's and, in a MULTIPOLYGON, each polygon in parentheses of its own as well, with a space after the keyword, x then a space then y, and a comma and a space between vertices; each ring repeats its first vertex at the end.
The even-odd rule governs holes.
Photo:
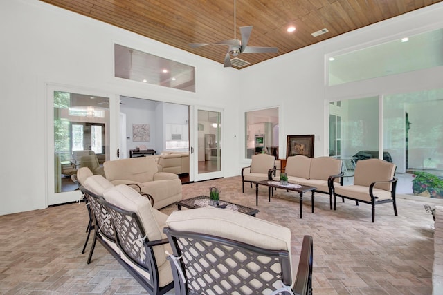
MULTIPOLYGON (((380 159, 359 160, 355 166, 354 185, 369 187, 372 182, 394 178, 395 164, 380 159)), ((392 191, 392 183, 375 184, 377 189, 392 191)))

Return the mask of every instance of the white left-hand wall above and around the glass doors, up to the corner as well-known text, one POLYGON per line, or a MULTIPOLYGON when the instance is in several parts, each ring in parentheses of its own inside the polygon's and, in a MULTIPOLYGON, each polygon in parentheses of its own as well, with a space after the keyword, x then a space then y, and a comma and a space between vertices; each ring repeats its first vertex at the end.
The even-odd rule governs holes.
MULTIPOLYGON (((0 35, 0 215, 46 207, 52 190, 46 180, 52 169, 47 83, 106 94, 115 105, 124 95, 224 108, 235 97, 237 70, 42 1, 0 1, 0 35), (114 42, 196 66, 198 92, 113 77, 114 42)), ((235 129, 239 122, 227 124, 235 129)), ((226 149, 235 153, 233 144, 226 149)), ((226 161, 226 166, 237 162, 226 161)))

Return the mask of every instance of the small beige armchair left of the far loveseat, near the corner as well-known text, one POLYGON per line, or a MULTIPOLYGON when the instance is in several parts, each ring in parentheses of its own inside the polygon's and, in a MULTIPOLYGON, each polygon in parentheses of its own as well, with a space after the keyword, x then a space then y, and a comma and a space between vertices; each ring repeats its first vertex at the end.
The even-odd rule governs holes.
POLYGON ((259 153, 251 158, 251 165, 242 168, 242 192, 244 193, 244 182, 253 182, 266 180, 271 177, 272 171, 275 172, 275 157, 259 153))

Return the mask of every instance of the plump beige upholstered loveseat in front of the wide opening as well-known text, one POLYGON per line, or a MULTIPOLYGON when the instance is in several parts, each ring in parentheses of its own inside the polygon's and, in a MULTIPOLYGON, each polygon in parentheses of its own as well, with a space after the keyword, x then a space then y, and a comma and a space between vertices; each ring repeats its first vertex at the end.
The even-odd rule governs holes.
POLYGON ((105 175, 112 184, 138 184, 143 193, 154 198, 159 209, 181 200, 181 180, 174 173, 159 172, 151 157, 138 157, 106 161, 105 175))

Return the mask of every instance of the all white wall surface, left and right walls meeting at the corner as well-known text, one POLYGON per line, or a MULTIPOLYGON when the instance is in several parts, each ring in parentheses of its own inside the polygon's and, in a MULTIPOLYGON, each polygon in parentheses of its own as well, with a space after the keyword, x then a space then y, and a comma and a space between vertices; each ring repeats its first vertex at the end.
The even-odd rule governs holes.
MULTIPOLYGON (((443 26, 443 3, 296 50, 243 70, 223 68, 183 50, 37 0, 0 1, 0 215, 46 207, 46 150, 51 125, 46 83, 191 106, 224 109, 225 176, 244 166, 244 111, 280 107, 280 156, 287 135, 315 134, 315 155, 325 155, 328 99, 365 97, 374 89, 394 92, 442 86, 442 67, 325 87, 324 57, 347 48, 443 26), (113 77, 113 44, 143 50, 197 68, 197 93, 113 77), (364 95, 364 96, 362 96, 364 95), (284 144, 282 144, 284 143, 284 144)), ((111 153, 112 155, 113 153, 111 153)))

